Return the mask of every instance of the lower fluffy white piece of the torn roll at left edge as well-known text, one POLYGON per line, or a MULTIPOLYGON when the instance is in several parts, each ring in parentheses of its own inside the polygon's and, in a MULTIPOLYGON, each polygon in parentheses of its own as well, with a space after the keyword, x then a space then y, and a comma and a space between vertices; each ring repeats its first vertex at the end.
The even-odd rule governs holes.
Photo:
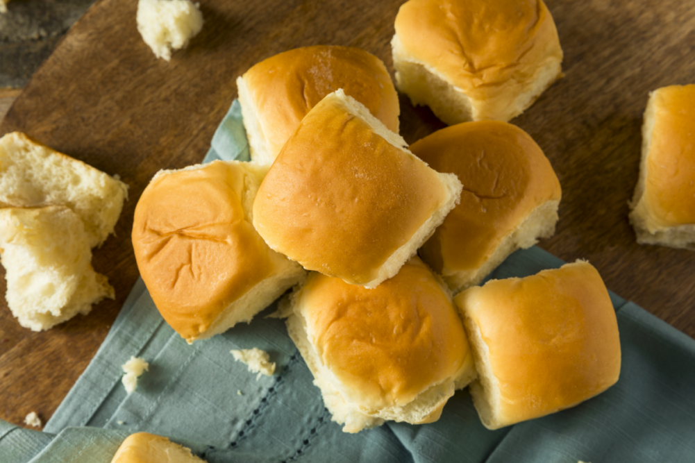
POLYGON ((19 324, 48 330, 114 297, 92 268, 84 223, 67 206, 0 209, 7 303, 19 324))

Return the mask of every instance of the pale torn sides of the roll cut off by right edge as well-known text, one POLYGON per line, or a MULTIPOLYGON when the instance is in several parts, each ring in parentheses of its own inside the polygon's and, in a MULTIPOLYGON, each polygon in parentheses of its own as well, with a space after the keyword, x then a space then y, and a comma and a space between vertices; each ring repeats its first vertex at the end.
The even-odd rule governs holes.
MULTIPOLYGON (((660 97, 661 90, 664 89, 657 89, 650 93, 647 107, 644 111, 639 179, 637 186, 635 186, 632 202, 630 202, 630 209, 632 209, 629 216, 630 223, 632 223, 632 227, 635 229, 637 243, 639 244, 695 250, 695 224, 663 225, 660 223, 660 220, 657 220, 652 215, 648 200, 644 197, 648 176, 647 161, 650 159, 650 156, 657 156, 657 154, 651 153, 650 149, 654 128, 657 124, 659 113, 661 111, 669 111, 667 106, 662 107, 659 104, 658 97, 660 97)), ((693 127, 695 127, 695 122, 693 127)))

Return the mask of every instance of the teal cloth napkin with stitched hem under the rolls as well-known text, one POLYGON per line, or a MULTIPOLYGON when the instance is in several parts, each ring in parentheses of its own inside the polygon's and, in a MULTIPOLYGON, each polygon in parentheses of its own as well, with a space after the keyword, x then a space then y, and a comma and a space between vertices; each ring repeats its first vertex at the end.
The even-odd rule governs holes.
MULTIPOLYGON (((237 101, 204 162, 248 159, 237 101)), ((489 278, 523 277, 563 262, 538 247, 512 254, 489 278)), ((108 463, 137 431, 171 437, 210 463, 231 462, 695 462, 695 341, 610 293, 622 371, 596 398, 497 431, 457 391, 429 425, 386 423, 345 434, 332 423, 284 321, 264 318, 188 346, 138 280, 94 359, 43 432, 0 421, 0 462, 108 463), (258 347, 272 377, 247 371, 231 349, 258 347), (126 395, 121 365, 149 362, 126 395)))

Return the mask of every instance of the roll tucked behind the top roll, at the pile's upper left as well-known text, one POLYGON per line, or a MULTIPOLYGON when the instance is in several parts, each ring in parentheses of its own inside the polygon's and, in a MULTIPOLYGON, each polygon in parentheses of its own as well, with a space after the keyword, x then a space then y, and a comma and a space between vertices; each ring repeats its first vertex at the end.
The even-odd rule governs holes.
POLYGON ((398 133, 398 95, 384 63, 354 47, 297 48, 254 65, 237 79, 254 161, 270 165, 319 101, 342 88, 398 133))

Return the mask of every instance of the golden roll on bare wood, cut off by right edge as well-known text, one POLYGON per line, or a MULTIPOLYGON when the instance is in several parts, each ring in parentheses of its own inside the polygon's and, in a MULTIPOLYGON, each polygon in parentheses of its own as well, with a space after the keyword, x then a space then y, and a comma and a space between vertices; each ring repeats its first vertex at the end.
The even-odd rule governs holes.
POLYGON ((637 242, 695 249, 695 85, 651 93, 630 221, 637 242))

